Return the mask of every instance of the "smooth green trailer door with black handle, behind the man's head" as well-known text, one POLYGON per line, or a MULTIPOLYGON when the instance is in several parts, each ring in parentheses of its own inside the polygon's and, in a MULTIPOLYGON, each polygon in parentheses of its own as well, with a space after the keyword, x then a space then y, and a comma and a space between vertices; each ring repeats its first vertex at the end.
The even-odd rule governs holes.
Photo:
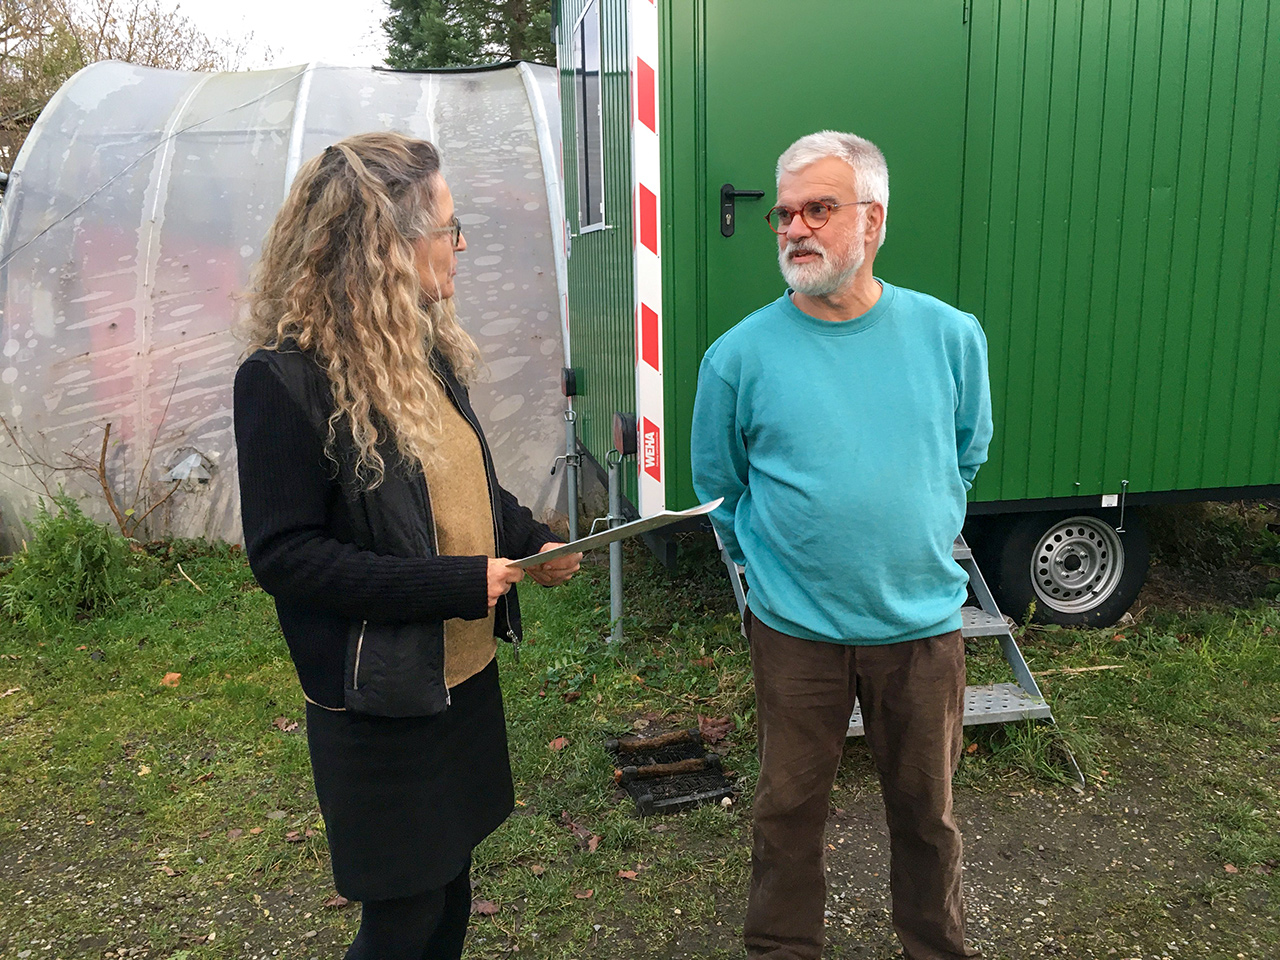
POLYGON ((707 0, 707 335, 783 289, 764 223, 778 155, 797 137, 847 131, 888 160, 887 280, 955 301, 968 26, 961 0, 707 0), (728 201, 736 223, 724 237, 728 201), (723 209, 722 209, 723 207, 723 209))

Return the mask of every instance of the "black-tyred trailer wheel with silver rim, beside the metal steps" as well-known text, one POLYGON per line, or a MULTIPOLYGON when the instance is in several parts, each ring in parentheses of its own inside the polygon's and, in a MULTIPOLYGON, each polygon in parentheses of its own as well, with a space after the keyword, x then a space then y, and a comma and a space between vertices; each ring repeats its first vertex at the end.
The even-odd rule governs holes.
MULTIPOLYGON (((1111 511, 1110 513, 1115 513, 1111 511)), ((1147 529, 1137 512, 1120 532, 1110 516, 1021 513, 992 531, 983 553, 1000 608, 1037 623, 1111 626, 1133 605, 1147 577, 1147 529)))

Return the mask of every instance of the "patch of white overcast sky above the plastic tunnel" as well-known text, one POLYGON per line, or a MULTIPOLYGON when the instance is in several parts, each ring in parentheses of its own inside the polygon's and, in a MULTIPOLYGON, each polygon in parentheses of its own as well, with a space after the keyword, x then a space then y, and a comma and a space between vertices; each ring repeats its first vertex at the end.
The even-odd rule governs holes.
POLYGON ((369 67, 387 51, 387 0, 160 0, 211 37, 252 33, 244 67, 325 63, 369 67), (270 49, 270 52, 268 52, 270 49))

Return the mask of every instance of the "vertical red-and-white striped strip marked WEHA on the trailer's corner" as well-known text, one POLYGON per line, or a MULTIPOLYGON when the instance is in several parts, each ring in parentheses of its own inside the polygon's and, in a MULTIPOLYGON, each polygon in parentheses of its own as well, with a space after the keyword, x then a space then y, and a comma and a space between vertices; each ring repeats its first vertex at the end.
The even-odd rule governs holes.
POLYGON ((631 0, 631 170, 635 178, 636 424, 640 516, 667 506, 662 390, 662 164, 658 5, 631 0))

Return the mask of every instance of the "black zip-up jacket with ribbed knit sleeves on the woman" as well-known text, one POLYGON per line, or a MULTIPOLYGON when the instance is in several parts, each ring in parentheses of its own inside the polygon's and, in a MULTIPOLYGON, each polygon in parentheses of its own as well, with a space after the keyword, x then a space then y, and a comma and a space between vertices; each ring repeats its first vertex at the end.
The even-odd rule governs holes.
MULTIPOLYGON (((498 556, 527 557, 554 540, 498 485, 467 392, 435 360, 445 392, 480 438, 498 556)), ((260 349, 236 372, 244 549, 271 596, 307 699, 381 717, 445 709, 444 621, 489 613, 488 558, 440 557, 421 466, 394 442, 379 447, 381 485, 356 481, 355 445, 333 411, 325 370, 297 349, 260 349)), ((518 644, 516 590, 498 602, 494 632, 518 644)))

